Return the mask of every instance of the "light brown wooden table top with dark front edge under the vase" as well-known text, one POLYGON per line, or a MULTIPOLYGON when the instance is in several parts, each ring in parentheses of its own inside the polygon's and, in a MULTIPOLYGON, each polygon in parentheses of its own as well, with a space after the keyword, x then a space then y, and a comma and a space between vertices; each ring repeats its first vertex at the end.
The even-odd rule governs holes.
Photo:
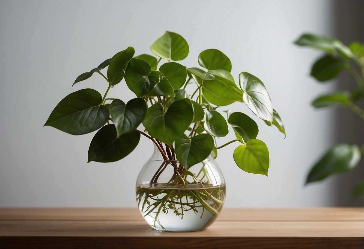
POLYGON ((160 232, 129 208, 0 208, 0 248, 364 248, 364 208, 223 209, 160 232))

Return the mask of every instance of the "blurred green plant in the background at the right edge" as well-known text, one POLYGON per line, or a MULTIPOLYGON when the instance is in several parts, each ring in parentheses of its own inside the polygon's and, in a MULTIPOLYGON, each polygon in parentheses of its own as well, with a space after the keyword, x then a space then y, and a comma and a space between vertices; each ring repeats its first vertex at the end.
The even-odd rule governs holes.
MULTIPOLYGON (((364 98, 364 44, 354 41, 349 46, 341 41, 324 36, 303 34, 295 44, 309 46, 324 51, 325 54, 312 66, 311 75, 319 82, 326 82, 347 70, 357 83, 357 87, 348 90, 327 93, 314 99, 316 108, 346 107, 364 120, 364 110, 358 102, 364 98)), ((320 181, 328 176, 353 170, 364 153, 364 145, 340 143, 330 148, 310 170, 306 184, 320 181)), ((353 187, 352 196, 356 199, 364 193, 364 180, 353 187)))

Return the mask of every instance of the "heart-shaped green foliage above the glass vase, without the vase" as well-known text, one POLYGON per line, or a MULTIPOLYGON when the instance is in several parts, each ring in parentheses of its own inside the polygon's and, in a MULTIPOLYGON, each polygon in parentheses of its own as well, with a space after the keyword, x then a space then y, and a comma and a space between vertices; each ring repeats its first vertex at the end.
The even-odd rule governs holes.
POLYGON ((216 158, 218 149, 237 142, 237 166, 268 176, 268 148, 256 139, 257 123, 242 112, 217 111, 234 102, 245 103, 266 124, 277 126, 285 134, 263 82, 242 72, 238 87, 230 73, 231 61, 217 49, 199 54, 198 63, 205 69, 186 68, 174 62, 185 59, 189 53, 189 45, 177 33, 165 32, 151 45, 151 51, 159 59, 149 54, 135 56, 134 48, 128 47, 79 75, 73 85, 94 73, 101 75, 107 86, 104 95, 94 89, 69 94, 55 107, 45 125, 73 135, 98 130, 91 140, 88 162, 120 160, 137 147, 143 135, 157 146, 165 160, 179 160, 185 168, 183 174, 211 153, 216 158), (167 62, 159 66, 162 59, 167 62), (106 73, 102 73, 106 68, 106 73), (107 98, 110 89, 123 79, 136 98, 126 103, 107 98), (192 94, 185 90, 189 83, 195 85, 192 94), (236 139, 218 146, 215 138, 228 134, 228 123, 236 139), (140 124, 144 128, 138 129, 140 124))

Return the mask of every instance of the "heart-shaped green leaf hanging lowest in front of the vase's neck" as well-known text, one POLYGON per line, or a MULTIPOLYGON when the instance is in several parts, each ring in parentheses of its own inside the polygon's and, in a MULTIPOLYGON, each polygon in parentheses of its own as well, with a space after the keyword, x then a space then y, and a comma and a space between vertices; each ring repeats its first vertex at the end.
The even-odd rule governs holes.
POLYGON ((210 134, 199 134, 191 141, 182 134, 181 138, 175 142, 175 152, 177 159, 188 170, 195 164, 205 160, 214 148, 214 139, 210 134))

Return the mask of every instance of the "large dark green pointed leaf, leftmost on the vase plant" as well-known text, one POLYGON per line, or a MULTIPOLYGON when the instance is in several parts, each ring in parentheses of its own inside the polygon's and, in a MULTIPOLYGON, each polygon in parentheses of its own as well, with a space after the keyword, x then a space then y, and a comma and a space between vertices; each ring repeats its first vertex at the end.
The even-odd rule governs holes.
POLYGON ((72 135, 82 135, 102 127, 109 119, 101 94, 94 89, 82 89, 68 94, 54 108, 44 126, 52 126, 72 135))

